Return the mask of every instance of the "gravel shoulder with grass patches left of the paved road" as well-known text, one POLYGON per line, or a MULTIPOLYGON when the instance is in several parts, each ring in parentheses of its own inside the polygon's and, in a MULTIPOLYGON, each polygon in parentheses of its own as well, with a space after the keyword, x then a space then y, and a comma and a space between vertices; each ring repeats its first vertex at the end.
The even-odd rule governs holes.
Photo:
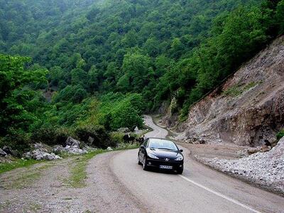
POLYGON ((119 152, 89 160, 82 187, 68 181, 79 157, 1 174, 0 212, 146 212, 109 168, 109 160, 119 152))

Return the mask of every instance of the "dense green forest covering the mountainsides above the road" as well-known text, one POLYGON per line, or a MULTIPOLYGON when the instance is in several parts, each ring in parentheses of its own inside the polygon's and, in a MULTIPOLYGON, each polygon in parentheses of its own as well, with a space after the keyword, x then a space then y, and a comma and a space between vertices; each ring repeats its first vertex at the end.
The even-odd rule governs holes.
POLYGON ((182 121, 284 33, 284 0, 0 5, 0 144, 21 150, 85 132, 111 141, 163 102, 182 121))

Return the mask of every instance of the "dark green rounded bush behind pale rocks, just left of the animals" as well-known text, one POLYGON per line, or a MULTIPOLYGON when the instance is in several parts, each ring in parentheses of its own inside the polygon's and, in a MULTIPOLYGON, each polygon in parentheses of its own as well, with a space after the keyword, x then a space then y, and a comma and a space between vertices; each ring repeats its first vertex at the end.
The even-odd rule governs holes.
POLYGON ((109 133, 104 129, 104 126, 78 126, 77 129, 75 129, 75 135, 80 141, 90 146, 96 146, 98 148, 116 146, 116 142, 111 141, 109 133), (89 142, 89 137, 94 138, 92 143, 89 142))

